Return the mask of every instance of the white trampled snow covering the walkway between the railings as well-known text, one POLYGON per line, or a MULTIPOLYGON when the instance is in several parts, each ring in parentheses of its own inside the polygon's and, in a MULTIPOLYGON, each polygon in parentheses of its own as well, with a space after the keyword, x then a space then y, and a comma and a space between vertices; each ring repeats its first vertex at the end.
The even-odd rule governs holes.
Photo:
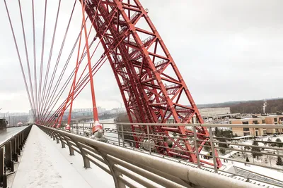
MULTIPOLYGON (((57 146, 59 145, 61 144, 57 144, 57 146)), ((56 142, 53 142, 47 134, 33 125, 12 187, 97 187, 97 182, 91 184, 93 179, 89 180, 88 178, 95 175, 93 169, 85 170, 83 168, 81 156, 78 153, 76 156, 69 156, 73 157, 74 161, 72 162, 79 162, 71 163, 68 159, 67 149, 57 146, 56 142), (81 168, 78 169, 78 166, 81 168)), ((108 184, 105 187, 112 186, 108 184)))

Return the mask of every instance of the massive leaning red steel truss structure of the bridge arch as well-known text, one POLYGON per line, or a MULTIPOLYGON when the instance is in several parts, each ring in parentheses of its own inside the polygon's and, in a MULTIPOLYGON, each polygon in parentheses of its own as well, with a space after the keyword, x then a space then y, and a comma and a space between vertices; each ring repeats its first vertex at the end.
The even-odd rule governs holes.
MULTIPOLYGON (((177 65, 141 3, 138 0, 83 2, 96 37, 103 38, 105 54, 109 52, 108 60, 130 122, 166 123, 173 118, 175 123, 191 123, 195 115, 198 123, 203 123, 177 65)), ((144 142, 145 134, 141 133, 146 131, 146 126, 132 125, 137 147, 144 142)), ((157 145, 156 152, 197 162, 192 153, 196 151, 195 144, 190 141, 192 130, 185 126, 150 126, 149 132, 157 145)), ((202 140, 198 144, 204 144, 208 137, 206 127, 197 127, 197 139, 202 140)), ((201 151, 202 146, 197 149, 201 151)), ((218 158, 216 162, 221 167, 218 158)))

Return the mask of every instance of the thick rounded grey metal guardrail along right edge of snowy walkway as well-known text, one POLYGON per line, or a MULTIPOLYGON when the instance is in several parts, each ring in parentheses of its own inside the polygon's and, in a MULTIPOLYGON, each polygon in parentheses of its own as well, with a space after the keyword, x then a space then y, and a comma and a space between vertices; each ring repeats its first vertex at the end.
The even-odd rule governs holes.
POLYGON ((37 126, 57 144, 61 142, 62 148, 67 146, 70 155, 74 155, 74 151, 80 153, 84 168, 90 168, 90 163, 93 163, 112 175, 115 187, 258 187, 245 179, 235 180, 121 146, 37 126))

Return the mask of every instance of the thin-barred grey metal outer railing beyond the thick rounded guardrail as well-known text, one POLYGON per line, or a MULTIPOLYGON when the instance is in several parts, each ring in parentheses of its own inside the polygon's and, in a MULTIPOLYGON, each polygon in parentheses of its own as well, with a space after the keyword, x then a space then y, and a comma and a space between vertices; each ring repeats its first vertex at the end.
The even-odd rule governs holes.
MULTIPOLYGON (((166 129, 173 130, 178 124, 167 123, 167 124, 156 124, 156 123, 134 123, 134 125, 144 125, 147 127, 146 132, 132 132, 130 125, 132 123, 101 123, 103 125, 104 135, 108 138, 108 143, 122 146, 127 149, 132 149, 134 151, 139 151, 142 153, 157 156, 159 158, 165 158, 169 161, 175 163, 183 163, 185 165, 190 165, 193 168, 200 168, 202 170, 207 170, 209 172, 214 172, 219 175, 229 176, 240 180, 246 180, 253 184, 265 185, 265 186, 282 186, 282 176, 283 166, 277 165, 277 158, 283 158, 283 143, 277 142, 277 139, 283 141, 283 125, 243 125, 243 124, 202 124, 202 127, 207 127, 207 130, 212 132, 212 139, 209 137, 204 137, 204 139, 196 139, 195 132, 200 124, 187 124, 186 130, 192 132, 189 141, 192 145, 197 144, 196 148, 203 146, 202 151, 194 151, 197 156, 197 163, 192 163, 183 158, 178 158, 178 156, 164 156, 156 153, 156 148, 164 148, 166 146, 160 146, 156 144, 156 141, 161 137, 166 139, 168 146, 170 145, 170 138, 159 135, 156 137, 154 132, 150 129, 151 125, 155 126, 166 126, 166 129), (216 135, 217 129, 219 132, 223 131, 223 134, 216 135), (268 136, 243 136, 235 137, 235 133, 241 129, 249 130, 251 133, 263 132, 263 130, 278 130, 277 135, 270 134, 268 136), (280 133, 281 131, 281 133, 280 133), (134 140, 133 134, 139 134, 142 140, 134 140), (150 141, 150 142, 149 142, 150 141), (258 144, 255 144, 255 142, 258 144), (135 147, 136 145, 139 147, 135 147), (218 151, 216 156, 212 149, 218 151), (224 164, 221 168, 216 167, 216 158, 221 160, 224 164), (248 158, 248 161, 247 161, 248 158), (207 165, 207 163, 212 163, 212 165, 207 165), (253 175, 246 176, 243 173, 239 173, 238 168, 233 166, 238 166, 240 168, 246 168, 255 172, 253 175), (279 171, 279 172, 278 172, 279 171), (262 173, 261 176, 255 175, 257 172, 262 173), (276 175, 275 175, 276 174, 276 175), (265 178, 261 178, 265 177, 265 178), (276 179, 274 181, 273 179, 276 179)), ((180 124, 184 125, 184 124, 180 124)), ((71 125, 71 132, 74 134, 83 135, 85 137, 90 137, 91 123, 76 123, 71 125)), ((248 131, 243 131, 248 132, 248 131)), ((183 139, 182 135, 176 134, 173 139, 183 139)), ((173 150, 174 151, 174 150, 173 150)), ((176 153, 183 153, 178 149, 175 149, 176 153)))

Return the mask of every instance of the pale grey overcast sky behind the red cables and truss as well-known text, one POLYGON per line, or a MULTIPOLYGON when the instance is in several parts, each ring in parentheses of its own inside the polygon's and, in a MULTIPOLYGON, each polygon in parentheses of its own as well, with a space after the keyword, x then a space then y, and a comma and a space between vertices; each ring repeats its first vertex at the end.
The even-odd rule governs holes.
MULTIPOLYGON (((40 61, 44 8, 44 1, 40 1, 35 6, 37 61, 40 61)), ((29 0, 21 2, 25 12, 28 53, 33 65, 31 3, 29 0)), ((59 17, 62 24, 58 26, 62 32, 56 38, 52 66, 56 62, 73 2, 62 3, 59 17)), ((48 0, 48 4, 46 48, 50 49, 57 0, 48 0)), ((149 9, 149 17, 171 52, 197 104, 282 96, 283 1, 141 0, 141 4, 149 9)), ((8 2, 8 6, 18 32, 17 39, 21 41, 21 57, 26 68, 18 4, 8 2)), ((77 37, 81 25, 80 11, 77 6, 67 38, 66 53, 63 53, 59 64, 60 70, 67 59, 68 47, 71 48, 77 37)), ((1 112, 28 112, 28 97, 3 2, 0 4, 0 16, 1 112)), ((49 51, 45 53, 46 66, 49 51)), ((74 68, 75 61, 71 63, 70 67, 74 68)), ((98 106, 110 109, 119 107, 122 98, 108 64, 106 62, 103 65, 94 80, 98 106)), ((74 108, 91 108, 88 88, 76 99, 74 108)))

